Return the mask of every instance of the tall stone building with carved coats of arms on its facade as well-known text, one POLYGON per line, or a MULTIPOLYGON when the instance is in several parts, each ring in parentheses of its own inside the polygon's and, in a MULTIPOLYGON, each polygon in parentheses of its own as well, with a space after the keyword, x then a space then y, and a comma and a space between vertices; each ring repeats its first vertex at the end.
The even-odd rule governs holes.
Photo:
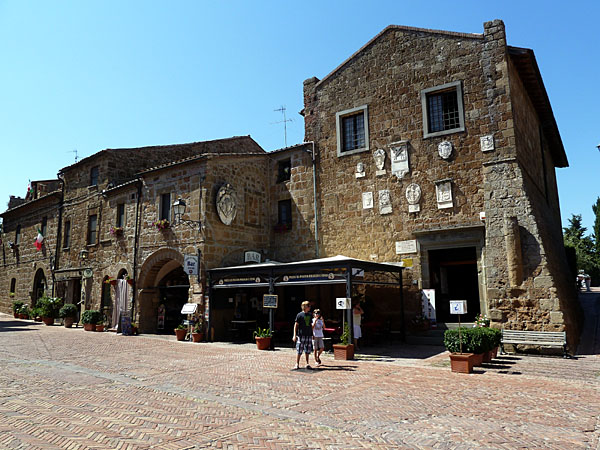
POLYGON ((533 54, 483 34, 389 26, 304 82, 324 255, 405 260, 407 314, 566 330, 578 339, 555 167, 568 165, 533 54))

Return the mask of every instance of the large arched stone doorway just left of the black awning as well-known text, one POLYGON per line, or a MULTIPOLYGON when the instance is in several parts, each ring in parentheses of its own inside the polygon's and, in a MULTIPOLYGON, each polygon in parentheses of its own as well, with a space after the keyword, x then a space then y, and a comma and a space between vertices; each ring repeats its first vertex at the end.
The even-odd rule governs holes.
POLYGON ((183 255, 161 249, 149 256, 139 275, 138 319, 144 333, 172 334, 181 323, 181 307, 188 302, 190 281, 183 270, 183 255), (159 324, 159 308, 164 321, 159 324))

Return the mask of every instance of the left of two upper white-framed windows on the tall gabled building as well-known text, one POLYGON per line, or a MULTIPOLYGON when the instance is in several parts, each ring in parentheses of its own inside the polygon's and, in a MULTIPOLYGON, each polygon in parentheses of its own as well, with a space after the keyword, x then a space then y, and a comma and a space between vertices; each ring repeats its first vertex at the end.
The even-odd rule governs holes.
POLYGON ((338 156, 369 150, 369 116, 367 105, 335 115, 338 156))

